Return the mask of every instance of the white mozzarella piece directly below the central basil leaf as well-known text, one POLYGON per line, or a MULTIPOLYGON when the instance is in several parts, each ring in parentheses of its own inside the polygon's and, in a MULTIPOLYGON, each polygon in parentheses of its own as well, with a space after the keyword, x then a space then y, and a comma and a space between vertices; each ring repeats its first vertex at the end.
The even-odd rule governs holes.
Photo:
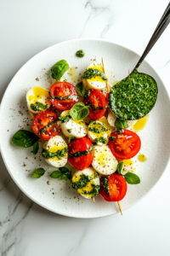
MULTIPOLYGON (((61 116, 70 116, 70 110, 65 110, 61 113, 61 116)), ((87 135, 87 126, 83 120, 73 120, 70 119, 66 123, 58 121, 62 132, 66 137, 75 136, 75 137, 85 137, 87 135)))

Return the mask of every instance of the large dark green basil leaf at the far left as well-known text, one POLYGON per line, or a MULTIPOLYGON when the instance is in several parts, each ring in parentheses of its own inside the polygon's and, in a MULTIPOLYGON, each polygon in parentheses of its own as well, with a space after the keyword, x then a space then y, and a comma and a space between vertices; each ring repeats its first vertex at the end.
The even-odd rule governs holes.
POLYGON ((33 146, 38 139, 39 137, 31 131, 19 130, 14 134, 12 142, 18 147, 29 148, 33 146))

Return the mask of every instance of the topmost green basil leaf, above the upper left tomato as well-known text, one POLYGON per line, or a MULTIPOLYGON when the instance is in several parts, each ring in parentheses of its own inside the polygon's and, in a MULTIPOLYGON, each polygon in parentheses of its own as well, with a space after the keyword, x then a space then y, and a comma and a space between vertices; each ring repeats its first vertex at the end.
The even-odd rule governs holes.
POLYGON ((58 61, 51 69, 52 78, 59 80, 64 75, 65 71, 67 71, 67 69, 69 69, 69 64, 67 61, 58 61))

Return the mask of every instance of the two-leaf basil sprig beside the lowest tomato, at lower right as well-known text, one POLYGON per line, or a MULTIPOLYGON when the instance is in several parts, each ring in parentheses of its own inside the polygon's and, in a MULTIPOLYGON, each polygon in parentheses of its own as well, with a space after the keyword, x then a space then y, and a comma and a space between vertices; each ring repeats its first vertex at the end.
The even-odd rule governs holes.
MULTIPOLYGON (((123 161, 121 161, 118 166, 117 166, 117 172, 122 175, 122 168, 124 166, 123 161)), ((135 173, 132 172, 127 172, 125 175, 122 175, 126 182, 128 184, 139 184, 140 183, 140 178, 138 175, 136 175, 135 173)))

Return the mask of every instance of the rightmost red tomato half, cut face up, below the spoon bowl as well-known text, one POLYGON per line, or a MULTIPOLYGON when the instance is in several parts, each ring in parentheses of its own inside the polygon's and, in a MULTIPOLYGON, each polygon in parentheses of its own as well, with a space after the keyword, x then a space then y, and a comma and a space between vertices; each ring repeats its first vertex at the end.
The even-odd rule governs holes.
POLYGON ((123 130, 120 135, 115 131, 111 137, 116 137, 114 141, 109 140, 109 147, 117 159, 131 159, 139 153, 141 141, 133 131, 123 130))

